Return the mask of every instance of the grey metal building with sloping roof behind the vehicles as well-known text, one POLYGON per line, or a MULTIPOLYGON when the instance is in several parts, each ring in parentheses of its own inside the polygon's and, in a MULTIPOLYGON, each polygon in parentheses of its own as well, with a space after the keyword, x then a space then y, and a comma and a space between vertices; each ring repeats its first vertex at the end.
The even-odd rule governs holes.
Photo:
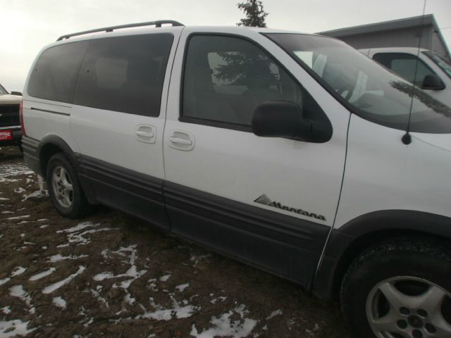
POLYGON ((317 34, 336 37, 355 49, 418 47, 421 35, 421 48, 431 49, 443 58, 451 59, 450 49, 433 14, 328 30, 317 34))

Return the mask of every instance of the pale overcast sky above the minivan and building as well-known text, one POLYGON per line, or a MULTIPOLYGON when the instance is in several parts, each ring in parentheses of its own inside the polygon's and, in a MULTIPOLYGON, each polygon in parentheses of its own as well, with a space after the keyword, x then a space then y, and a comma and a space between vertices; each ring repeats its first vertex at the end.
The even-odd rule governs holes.
MULTIPOLYGON (((23 91, 36 54, 57 37, 109 25, 173 19, 185 25, 235 25, 244 0, 0 0, 0 83, 23 91)), ((263 0, 268 27, 321 32, 423 13, 424 0, 263 0)), ((427 0, 451 47, 451 0, 427 0)))

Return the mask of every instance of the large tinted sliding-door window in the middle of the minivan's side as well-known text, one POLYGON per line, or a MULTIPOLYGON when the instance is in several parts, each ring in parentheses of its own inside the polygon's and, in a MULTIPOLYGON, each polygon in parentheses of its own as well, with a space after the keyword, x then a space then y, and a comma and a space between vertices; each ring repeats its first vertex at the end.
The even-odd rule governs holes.
POLYGON ((93 39, 83 59, 74 104, 158 116, 173 35, 93 39))

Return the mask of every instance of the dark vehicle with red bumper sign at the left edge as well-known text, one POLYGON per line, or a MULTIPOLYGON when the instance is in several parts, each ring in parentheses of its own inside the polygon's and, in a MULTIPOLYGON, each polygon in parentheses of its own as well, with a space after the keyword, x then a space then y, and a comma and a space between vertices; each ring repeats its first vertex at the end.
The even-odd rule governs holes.
POLYGON ((22 151, 20 102, 22 93, 9 94, 0 84, 0 146, 18 146, 22 151))

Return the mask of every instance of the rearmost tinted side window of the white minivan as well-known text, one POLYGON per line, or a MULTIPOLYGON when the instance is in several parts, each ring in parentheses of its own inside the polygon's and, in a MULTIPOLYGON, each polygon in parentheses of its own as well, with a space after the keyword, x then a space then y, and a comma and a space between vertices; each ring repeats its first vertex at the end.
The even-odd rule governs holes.
POLYGON ((27 92, 40 99, 71 103, 78 68, 88 42, 72 42, 42 52, 32 70, 27 92))

